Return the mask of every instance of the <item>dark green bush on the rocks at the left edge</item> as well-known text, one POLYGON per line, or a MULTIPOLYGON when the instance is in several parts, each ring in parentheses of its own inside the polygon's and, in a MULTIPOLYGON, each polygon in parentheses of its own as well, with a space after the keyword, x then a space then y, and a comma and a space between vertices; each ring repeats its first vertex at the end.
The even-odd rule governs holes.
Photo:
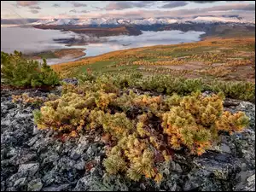
POLYGON ((47 65, 26 60, 21 52, 1 52, 1 79, 3 84, 15 87, 42 87, 59 84, 57 74, 47 65))

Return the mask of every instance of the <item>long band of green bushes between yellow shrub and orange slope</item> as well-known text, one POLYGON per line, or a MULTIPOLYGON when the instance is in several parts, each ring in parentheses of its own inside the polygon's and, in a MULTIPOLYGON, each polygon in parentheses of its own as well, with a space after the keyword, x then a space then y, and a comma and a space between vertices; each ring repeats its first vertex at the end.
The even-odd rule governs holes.
MULTIPOLYGON (((207 82, 205 79, 175 78, 171 75, 142 76, 141 73, 105 73, 94 76, 96 82, 108 82, 116 88, 137 88, 149 90, 166 95, 176 93, 186 96, 197 90, 211 90, 214 93, 224 92, 226 97, 243 101, 255 102, 255 85, 250 82, 225 82, 214 80, 207 82)), ((86 81, 84 81, 85 83, 86 81)), ((89 82, 89 80, 87 80, 89 82)), ((108 86, 107 86, 108 87, 108 86)))

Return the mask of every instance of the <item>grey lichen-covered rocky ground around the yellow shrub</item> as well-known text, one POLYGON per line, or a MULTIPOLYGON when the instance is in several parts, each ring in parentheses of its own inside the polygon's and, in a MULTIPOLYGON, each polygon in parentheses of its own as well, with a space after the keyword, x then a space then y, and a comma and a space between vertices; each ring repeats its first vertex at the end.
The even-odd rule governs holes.
MULTIPOLYGON (((255 105, 250 102, 225 102, 226 110, 247 113, 251 121, 247 129, 231 136, 223 134, 200 157, 174 154, 162 167, 163 181, 156 184, 106 174, 102 166, 105 148, 96 133, 63 141, 53 131, 38 131, 34 108, 11 102, 11 95, 21 92, 48 94, 1 92, 1 190, 255 191, 255 105)), ((60 89, 52 92, 60 94, 60 89)))

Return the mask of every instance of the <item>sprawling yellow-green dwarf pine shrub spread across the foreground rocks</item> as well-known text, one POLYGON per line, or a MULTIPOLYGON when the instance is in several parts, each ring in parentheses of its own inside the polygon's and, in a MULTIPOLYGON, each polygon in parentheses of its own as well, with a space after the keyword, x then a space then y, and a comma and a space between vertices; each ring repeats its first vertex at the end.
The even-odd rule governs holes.
MULTIPOLYGON (((108 145, 108 158, 103 160, 108 173, 123 172, 135 181, 148 177, 156 182, 163 177, 160 163, 172 160, 175 151, 201 155, 219 131, 242 131, 248 124, 245 113, 224 111, 222 92, 203 96, 199 79, 173 79, 176 84, 169 87, 170 96, 127 90, 129 84, 141 84, 143 79, 139 79, 140 73, 84 75, 79 85, 64 84, 61 97, 35 110, 35 122, 40 129, 72 137, 100 131, 108 145)), ((154 90, 154 81, 147 82, 148 90, 154 90)))

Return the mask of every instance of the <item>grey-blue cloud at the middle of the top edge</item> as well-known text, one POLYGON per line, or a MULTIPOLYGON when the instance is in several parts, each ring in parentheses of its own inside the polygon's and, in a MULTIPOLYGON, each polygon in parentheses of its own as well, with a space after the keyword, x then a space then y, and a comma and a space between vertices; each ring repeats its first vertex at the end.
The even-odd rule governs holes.
POLYGON ((123 1, 123 2, 113 2, 108 3, 108 5, 104 8, 106 10, 123 10, 130 8, 146 8, 156 2, 153 1, 123 1))

